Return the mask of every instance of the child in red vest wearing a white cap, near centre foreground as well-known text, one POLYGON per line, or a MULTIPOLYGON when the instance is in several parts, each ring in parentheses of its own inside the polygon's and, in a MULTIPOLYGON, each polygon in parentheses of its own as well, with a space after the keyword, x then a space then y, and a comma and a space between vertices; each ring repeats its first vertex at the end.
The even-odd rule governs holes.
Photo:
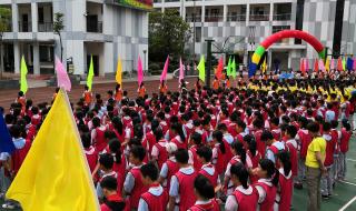
POLYGON ((179 170, 179 165, 176 161, 175 153, 178 150, 176 143, 166 143, 166 150, 168 152, 168 160, 162 164, 159 173, 159 183, 162 184, 167 191, 169 191, 170 179, 179 170))

